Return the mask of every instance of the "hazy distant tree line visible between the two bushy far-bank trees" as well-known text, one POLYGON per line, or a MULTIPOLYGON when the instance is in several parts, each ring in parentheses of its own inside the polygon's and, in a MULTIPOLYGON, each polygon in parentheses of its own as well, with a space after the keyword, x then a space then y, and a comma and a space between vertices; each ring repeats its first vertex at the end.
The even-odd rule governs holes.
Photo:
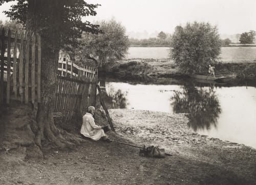
POLYGON ((131 45, 170 45, 171 35, 160 32, 157 37, 148 39, 130 38, 131 45))

